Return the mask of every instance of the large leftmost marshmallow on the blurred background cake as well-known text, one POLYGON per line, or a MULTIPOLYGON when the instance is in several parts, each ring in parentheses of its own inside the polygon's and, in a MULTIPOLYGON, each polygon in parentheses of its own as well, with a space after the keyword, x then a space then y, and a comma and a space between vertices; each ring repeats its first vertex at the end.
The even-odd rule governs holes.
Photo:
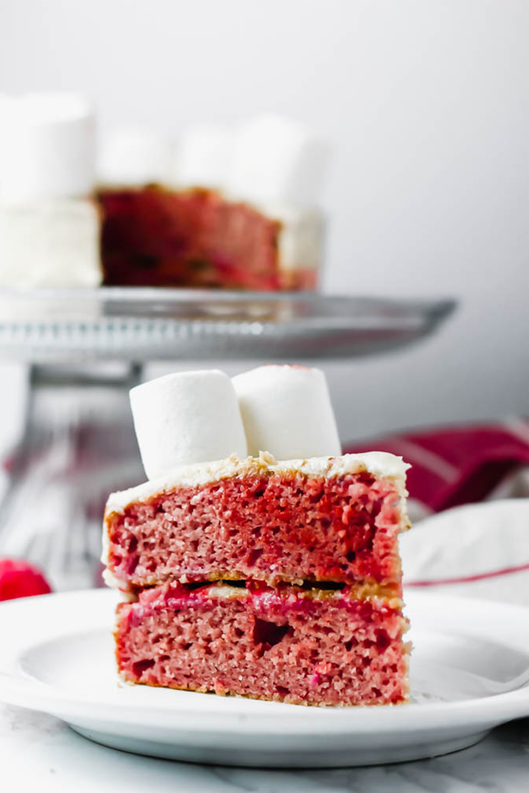
POLYGON ((4 103, 4 204, 82 197, 95 181, 94 114, 78 94, 25 94, 4 103))

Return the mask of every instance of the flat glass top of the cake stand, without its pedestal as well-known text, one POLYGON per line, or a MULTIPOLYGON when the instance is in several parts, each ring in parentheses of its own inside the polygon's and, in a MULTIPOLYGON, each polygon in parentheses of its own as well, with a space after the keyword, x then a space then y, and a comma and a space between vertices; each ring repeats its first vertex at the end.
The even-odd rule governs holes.
POLYGON ((205 289, 0 289, 0 356, 76 364, 349 358, 424 338, 454 305, 205 289))

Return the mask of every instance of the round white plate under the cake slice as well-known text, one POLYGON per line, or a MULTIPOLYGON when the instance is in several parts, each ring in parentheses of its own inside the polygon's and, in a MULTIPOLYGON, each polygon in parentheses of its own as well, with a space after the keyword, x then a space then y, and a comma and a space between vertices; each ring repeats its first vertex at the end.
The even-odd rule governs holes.
POLYGON ((105 590, 0 604, 0 699, 130 752, 215 764, 332 767, 452 752, 529 714, 529 611, 409 592, 412 703, 299 707, 132 686, 114 671, 105 590), (501 693, 497 693, 501 691, 501 693))

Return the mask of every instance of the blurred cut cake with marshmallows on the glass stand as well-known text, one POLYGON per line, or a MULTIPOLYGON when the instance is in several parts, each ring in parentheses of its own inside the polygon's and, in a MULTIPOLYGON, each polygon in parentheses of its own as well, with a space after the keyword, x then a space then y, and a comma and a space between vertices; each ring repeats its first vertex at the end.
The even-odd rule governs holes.
POLYGON ((316 289, 326 155, 308 131, 258 117, 97 145, 95 123, 78 94, 0 97, 0 286, 316 289))

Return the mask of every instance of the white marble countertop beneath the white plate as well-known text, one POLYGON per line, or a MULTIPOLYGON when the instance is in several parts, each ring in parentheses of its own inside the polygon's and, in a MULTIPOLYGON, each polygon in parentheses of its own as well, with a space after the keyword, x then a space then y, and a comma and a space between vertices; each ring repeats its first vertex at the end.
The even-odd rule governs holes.
POLYGON ((266 770, 157 760, 91 743, 56 718, 0 705, 3 790, 39 793, 526 793, 529 719, 445 757, 372 768, 266 770), (11 784, 9 784, 11 783, 11 784))

